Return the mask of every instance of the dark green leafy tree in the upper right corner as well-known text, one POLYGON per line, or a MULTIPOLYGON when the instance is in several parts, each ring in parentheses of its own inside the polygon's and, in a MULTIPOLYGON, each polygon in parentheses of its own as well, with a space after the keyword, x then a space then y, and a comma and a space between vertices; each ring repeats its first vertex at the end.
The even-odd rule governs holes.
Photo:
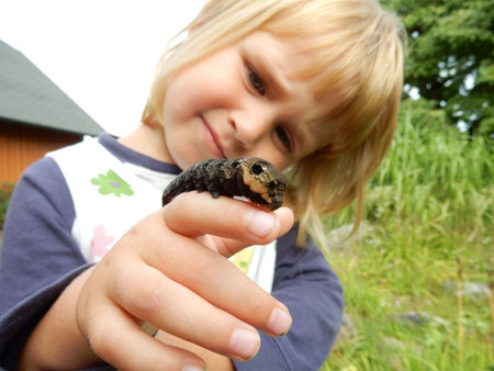
POLYGON ((494 0, 389 0, 409 36, 405 95, 494 136, 494 0))

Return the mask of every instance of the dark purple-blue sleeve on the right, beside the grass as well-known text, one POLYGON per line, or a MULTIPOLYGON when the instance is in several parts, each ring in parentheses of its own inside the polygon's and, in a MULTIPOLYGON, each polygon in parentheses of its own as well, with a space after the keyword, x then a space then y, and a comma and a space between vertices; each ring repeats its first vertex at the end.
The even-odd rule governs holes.
POLYGON ((277 243, 272 295, 290 310, 290 331, 278 338, 260 333, 258 355, 248 362, 234 361, 244 370, 319 370, 338 335, 343 288, 326 258, 311 240, 295 247, 296 228, 277 243))

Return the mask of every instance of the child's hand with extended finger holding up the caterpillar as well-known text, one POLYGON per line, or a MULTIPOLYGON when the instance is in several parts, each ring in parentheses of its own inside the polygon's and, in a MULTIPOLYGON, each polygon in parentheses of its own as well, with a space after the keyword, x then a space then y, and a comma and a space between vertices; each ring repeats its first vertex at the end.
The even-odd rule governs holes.
POLYGON ((267 213, 209 193, 177 196, 96 267, 77 304, 80 330, 99 357, 120 369, 203 367, 195 355, 145 334, 143 322, 232 359, 252 358, 256 328, 283 335, 291 317, 225 257, 270 243, 292 223, 288 209, 267 213))

